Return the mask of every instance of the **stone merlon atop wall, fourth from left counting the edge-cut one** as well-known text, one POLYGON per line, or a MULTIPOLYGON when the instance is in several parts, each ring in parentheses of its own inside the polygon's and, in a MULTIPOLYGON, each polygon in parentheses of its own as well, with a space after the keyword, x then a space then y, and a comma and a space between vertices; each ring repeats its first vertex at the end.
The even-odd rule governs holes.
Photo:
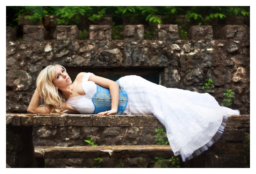
POLYGON ((90 25, 89 39, 90 40, 111 40, 111 27, 109 25, 90 25))

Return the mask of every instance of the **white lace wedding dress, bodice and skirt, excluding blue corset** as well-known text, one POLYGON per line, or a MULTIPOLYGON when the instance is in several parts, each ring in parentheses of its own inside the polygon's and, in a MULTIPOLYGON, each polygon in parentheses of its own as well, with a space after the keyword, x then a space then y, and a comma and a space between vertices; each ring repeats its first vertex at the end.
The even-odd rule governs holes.
MULTIPOLYGON (((94 82, 86 73, 82 86, 86 95, 70 98, 66 102, 81 114, 92 114, 94 82)), ((166 88, 139 76, 124 76, 120 85, 128 96, 123 115, 154 114, 166 128, 167 138, 175 155, 183 161, 200 155, 223 133, 227 115, 239 115, 238 110, 221 107, 208 93, 166 88)))

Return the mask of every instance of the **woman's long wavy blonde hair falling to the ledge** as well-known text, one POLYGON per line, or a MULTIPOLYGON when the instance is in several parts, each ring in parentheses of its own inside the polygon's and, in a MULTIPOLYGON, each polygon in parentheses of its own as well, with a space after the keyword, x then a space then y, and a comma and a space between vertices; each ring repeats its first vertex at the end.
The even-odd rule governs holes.
POLYGON ((53 84, 56 66, 60 66, 66 71, 66 69, 59 64, 48 65, 39 73, 36 79, 36 88, 39 91, 40 97, 44 99, 45 106, 51 107, 50 113, 62 114, 67 110, 63 110, 61 106, 62 102, 65 102, 64 95, 60 90, 55 88, 55 85, 53 84))

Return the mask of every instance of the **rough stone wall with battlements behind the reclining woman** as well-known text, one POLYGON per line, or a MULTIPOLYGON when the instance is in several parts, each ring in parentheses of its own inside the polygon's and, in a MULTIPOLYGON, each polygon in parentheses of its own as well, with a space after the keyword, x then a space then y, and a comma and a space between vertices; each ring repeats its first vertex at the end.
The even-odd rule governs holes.
MULTIPOLYGON (((157 67, 161 85, 200 93, 204 92, 201 87, 210 78, 215 85, 211 95, 219 104, 223 102, 225 89, 232 89, 236 98, 231 108, 240 110, 241 114, 250 114, 249 31, 245 26, 228 25, 222 28, 221 39, 214 40, 212 26, 192 26, 189 40, 180 40, 177 25, 158 25, 158 40, 151 41, 144 40, 143 25, 126 25, 124 39, 111 40, 109 25, 92 25, 89 40, 78 40, 76 26, 46 29, 25 25, 23 41, 16 41, 16 31, 6 27, 6 113, 27 113, 39 72, 48 64, 61 64, 71 70, 72 67, 85 72, 94 70, 96 75, 102 68, 143 70, 157 67)), ((51 139, 51 145, 84 146, 83 140, 91 136, 99 145, 156 142, 152 127, 39 126, 33 128, 33 134, 35 146, 47 146, 51 139)), ((133 161, 137 163, 136 160, 133 161)), ((65 163, 76 166, 75 163, 80 162, 65 163)))

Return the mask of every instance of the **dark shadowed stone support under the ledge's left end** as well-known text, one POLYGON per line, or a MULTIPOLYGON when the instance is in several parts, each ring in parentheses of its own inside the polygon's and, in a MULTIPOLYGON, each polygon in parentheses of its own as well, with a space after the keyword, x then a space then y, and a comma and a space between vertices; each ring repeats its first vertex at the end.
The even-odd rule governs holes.
POLYGON ((6 126, 6 164, 11 168, 33 168, 32 126, 6 126))

